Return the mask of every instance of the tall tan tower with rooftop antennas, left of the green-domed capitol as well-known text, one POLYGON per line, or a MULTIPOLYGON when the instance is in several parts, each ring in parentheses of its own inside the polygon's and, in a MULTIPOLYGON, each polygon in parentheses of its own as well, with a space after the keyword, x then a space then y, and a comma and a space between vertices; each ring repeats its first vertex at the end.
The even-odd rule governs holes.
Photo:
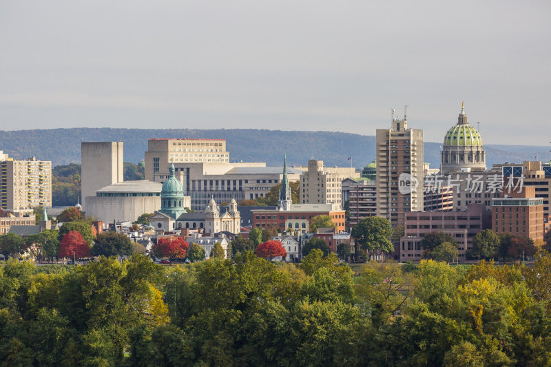
POLYGON ((377 129, 377 216, 393 227, 404 213, 423 210, 423 130, 392 116, 391 129, 377 129))

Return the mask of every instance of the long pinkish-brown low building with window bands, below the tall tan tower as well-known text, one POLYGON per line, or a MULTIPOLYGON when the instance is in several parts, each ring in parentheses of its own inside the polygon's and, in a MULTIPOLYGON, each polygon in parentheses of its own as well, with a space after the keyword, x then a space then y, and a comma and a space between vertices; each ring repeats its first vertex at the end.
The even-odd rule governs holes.
POLYGON ((397 255, 401 262, 419 261, 423 257, 421 241, 427 233, 441 231, 457 241, 459 261, 472 247, 472 238, 491 227, 491 211, 484 204, 469 204, 466 211, 412 211, 406 213, 404 237, 400 238, 397 255))

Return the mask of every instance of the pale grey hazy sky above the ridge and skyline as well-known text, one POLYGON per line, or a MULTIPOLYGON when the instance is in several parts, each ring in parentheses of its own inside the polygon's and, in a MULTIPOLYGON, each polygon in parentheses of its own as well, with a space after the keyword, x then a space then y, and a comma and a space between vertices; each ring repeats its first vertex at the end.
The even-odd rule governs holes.
POLYGON ((260 128, 551 141, 551 1, 0 1, 0 129, 260 128))

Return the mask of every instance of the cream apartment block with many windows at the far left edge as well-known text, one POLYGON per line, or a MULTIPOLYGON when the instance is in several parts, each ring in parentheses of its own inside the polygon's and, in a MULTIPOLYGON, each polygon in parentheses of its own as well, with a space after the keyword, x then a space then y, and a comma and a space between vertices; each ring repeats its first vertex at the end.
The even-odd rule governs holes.
POLYGON ((52 207, 52 162, 14 160, 0 151, 0 168, 2 209, 52 207))

